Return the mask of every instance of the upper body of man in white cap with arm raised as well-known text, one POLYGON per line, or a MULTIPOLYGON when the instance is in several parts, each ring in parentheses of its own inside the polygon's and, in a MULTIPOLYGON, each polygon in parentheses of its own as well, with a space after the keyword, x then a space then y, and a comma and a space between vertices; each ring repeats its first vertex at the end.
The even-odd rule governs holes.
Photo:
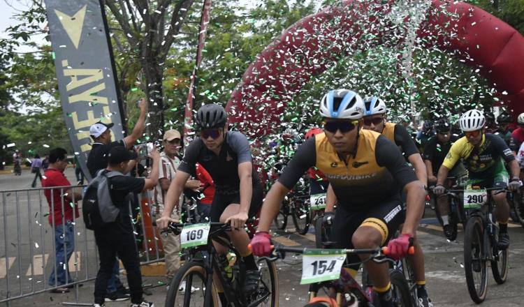
MULTIPOLYGON (((89 156, 87 156, 87 169, 92 178, 96 177, 97 171, 103 170, 108 166, 108 153, 112 147, 123 146, 126 147, 126 149, 131 149, 136 140, 142 135, 145 128, 145 115, 147 114, 147 102, 144 98, 140 101, 138 107, 140 107, 138 121, 136 121, 135 128, 133 128, 131 134, 124 137, 124 140, 111 142, 110 128, 114 123, 102 123, 99 121, 89 128, 89 135, 93 138, 94 143, 92 144, 91 151, 89 151, 89 156)), ((129 172, 134 165, 135 161, 130 161, 126 173, 129 172)))

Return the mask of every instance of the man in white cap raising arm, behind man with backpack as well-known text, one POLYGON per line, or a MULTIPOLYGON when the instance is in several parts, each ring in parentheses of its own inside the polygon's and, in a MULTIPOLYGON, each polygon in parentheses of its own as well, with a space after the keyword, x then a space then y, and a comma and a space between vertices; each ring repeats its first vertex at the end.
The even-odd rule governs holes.
MULTIPOLYGON (((147 114, 147 102, 143 98, 138 105, 140 107, 140 116, 138 121, 136 121, 135 128, 131 132, 131 135, 124 137, 124 140, 118 140, 116 142, 111 142, 111 130, 110 128, 114 123, 102 123, 101 121, 94 123, 94 125, 89 128, 89 135, 94 140, 92 144, 92 149, 89 151, 89 156, 87 156, 87 169, 91 178, 96 177, 96 173, 99 170, 105 169, 108 167, 108 156, 109 151, 113 147, 125 147, 126 149, 131 149, 133 144, 135 144, 138 137, 140 137, 145 128, 145 115, 147 114)), ((124 174, 127 174, 134 166, 136 165, 135 160, 131 160, 127 169, 124 170, 124 174)), ((129 299, 127 296, 127 290, 120 282, 119 275, 119 263, 115 259, 115 268, 113 270, 114 275, 109 280, 108 283, 108 301, 122 301, 129 299)))

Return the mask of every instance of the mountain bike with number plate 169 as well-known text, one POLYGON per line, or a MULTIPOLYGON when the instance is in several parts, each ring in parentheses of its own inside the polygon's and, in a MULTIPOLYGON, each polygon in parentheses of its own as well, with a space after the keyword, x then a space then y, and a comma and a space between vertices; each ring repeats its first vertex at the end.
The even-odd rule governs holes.
POLYGON ((275 263, 265 260, 259 262, 261 283, 259 289, 250 294, 242 290, 246 269, 242 257, 235 249, 226 232, 231 226, 224 223, 176 224, 170 223, 169 230, 180 234, 182 245, 187 244, 186 263, 180 267, 170 283, 166 297, 166 307, 173 306, 219 306, 217 289, 224 291, 228 306, 277 307, 279 285, 275 263), (227 246, 234 254, 234 264, 224 267, 219 253, 212 241, 227 246), (188 244, 189 242, 189 244, 188 244), (216 279, 213 278, 213 272, 216 279), (228 276, 228 273, 232 274, 228 276))

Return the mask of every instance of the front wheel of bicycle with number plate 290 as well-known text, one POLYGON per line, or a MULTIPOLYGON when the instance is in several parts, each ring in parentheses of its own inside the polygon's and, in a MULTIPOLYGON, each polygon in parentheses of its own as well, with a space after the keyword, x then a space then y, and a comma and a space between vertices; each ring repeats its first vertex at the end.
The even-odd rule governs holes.
POLYGON ((482 221, 472 217, 464 232, 464 271, 471 299, 480 304, 488 292, 488 269, 484 253, 482 221))

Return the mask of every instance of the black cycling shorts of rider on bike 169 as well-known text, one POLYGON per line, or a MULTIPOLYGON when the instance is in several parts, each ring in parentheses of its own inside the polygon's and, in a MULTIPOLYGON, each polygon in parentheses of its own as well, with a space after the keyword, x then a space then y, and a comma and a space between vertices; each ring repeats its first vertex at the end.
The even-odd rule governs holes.
MULTIPOLYGON (((256 216, 262 207, 263 190, 260 185, 253 187, 253 194, 251 197, 251 206, 249 206, 249 218, 256 216)), ((234 193, 221 193, 215 191, 213 202, 211 204, 210 218, 212 222, 219 222, 220 216, 230 204, 240 204, 240 191, 234 193)))

